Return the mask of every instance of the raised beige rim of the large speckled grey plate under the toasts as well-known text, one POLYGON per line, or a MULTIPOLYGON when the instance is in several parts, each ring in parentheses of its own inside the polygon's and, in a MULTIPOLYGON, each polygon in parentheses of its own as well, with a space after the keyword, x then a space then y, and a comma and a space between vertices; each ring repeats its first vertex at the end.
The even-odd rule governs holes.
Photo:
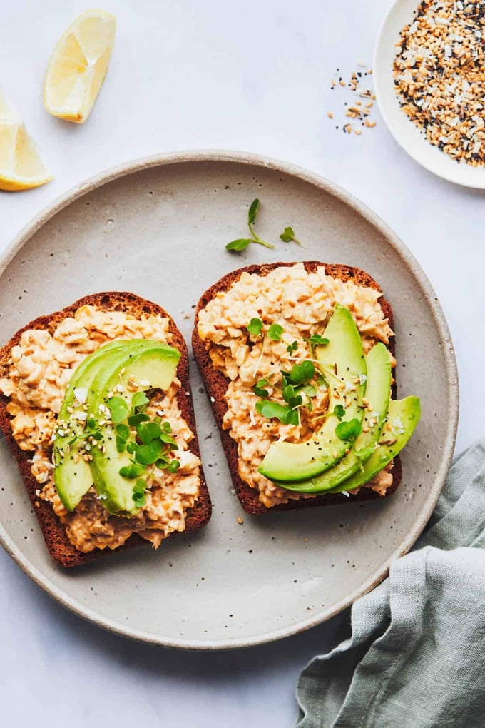
POLYGON ((313 615, 308 620, 298 622, 297 625, 287 626, 278 630, 273 630, 262 635, 253 636, 250 638, 225 638, 224 640, 211 640, 211 639, 184 639, 175 638, 173 640, 164 638, 163 636, 157 637, 153 633, 147 633, 143 630, 136 630, 132 628, 125 628, 123 625, 114 622, 105 617, 100 617, 93 609, 80 604, 73 598, 70 598, 61 587, 57 587, 49 577, 45 577, 36 566, 23 555, 22 550, 15 546, 10 539, 7 531, 0 524, 0 545, 4 547, 4 550, 8 555, 20 566, 20 569, 30 577, 37 586, 41 587, 50 597, 54 598, 59 604, 64 606, 70 612, 83 617, 85 620, 94 623, 98 627, 104 628, 112 633, 116 633, 119 636, 132 638, 137 641, 142 641, 148 644, 156 644, 159 646, 170 647, 175 649, 195 649, 195 650, 223 650, 223 649, 236 649, 241 647, 251 647, 261 644, 268 644, 270 642, 282 639, 285 637, 293 636, 301 633, 311 627, 319 625, 326 620, 339 614, 348 606, 353 604, 357 598, 364 596, 367 592, 376 587, 382 579, 388 575, 390 563, 404 555, 414 545, 417 538, 420 536, 426 523, 428 522, 431 513, 433 513, 438 497, 441 494, 441 490, 444 485, 446 474, 449 470, 449 465, 452 462, 452 456, 454 453, 454 444, 456 440, 457 425, 458 425, 458 414, 459 414, 459 389, 458 389, 458 373, 457 373, 457 362, 454 356, 454 346, 452 338, 449 333, 448 324, 444 312, 441 309, 441 304, 438 301, 438 297, 433 290, 428 277, 422 270, 420 264, 416 258, 412 255, 411 251, 406 247, 404 242, 396 235, 395 232, 385 223, 379 215, 370 210, 369 207, 364 205, 359 199, 350 194, 345 189, 342 189, 337 184, 327 180, 326 178, 313 173, 310 170, 306 170, 303 167, 292 164, 291 162, 284 162, 278 159, 271 159, 260 154, 252 154, 246 151, 223 151, 223 150, 193 150, 193 151, 174 151, 163 154, 154 154, 149 157, 141 157, 134 159, 129 162, 124 162, 116 167, 110 167, 104 172, 98 173, 92 176, 84 182, 74 186, 60 197, 55 198, 47 207, 44 207, 40 213, 38 213, 32 220, 27 223, 15 236, 12 242, 7 245, 4 253, 0 256, 0 277, 4 273, 5 269, 17 255, 17 253, 23 248, 25 243, 35 234, 45 223, 52 219, 60 210, 63 210, 71 203, 76 202, 79 198, 89 194, 95 189, 104 186, 107 183, 115 181, 116 179, 124 176, 135 174, 143 170, 151 169, 152 167, 165 167, 169 165, 180 165, 180 164, 193 164, 203 162, 224 162, 224 163, 235 163, 239 165, 247 166, 258 166, 266 169, 274 170, 276 172, 291 175, 297 177, 301 181, 305 181, 310 185, 325 191, 327 194, 339 199, 356 210, 366 221, 368 221, 375 229, 377 229, 386 239, 388 245, 395 250, 400 258, 403 259, 404 263, 409 267, 414 277, 419 282, 425 301, 430 307, 430 312, 433 316, 436 328, 438 330, 441 342, 443 344, 444 352, 444 363, 446 368, 446 379, 452 385, 449 389, 451 411, 446 420, 446 432, 445 435, 445 446, 444 456, 441 459, 441 464, 438 467, 436 476, 434 478, 433 486, 430 488, 430 494, 428 497, 428 507, 422 510, 420 518, 414 523, 414 528, 406 535, 406 538, 401 544, 396 547, 393 553, 385 559, 380 568, 376 569, 369 579, 364 582, 363 585, 354 590, 350 595, 340 599, 332 609, 324 609, 318 614, 313 615))

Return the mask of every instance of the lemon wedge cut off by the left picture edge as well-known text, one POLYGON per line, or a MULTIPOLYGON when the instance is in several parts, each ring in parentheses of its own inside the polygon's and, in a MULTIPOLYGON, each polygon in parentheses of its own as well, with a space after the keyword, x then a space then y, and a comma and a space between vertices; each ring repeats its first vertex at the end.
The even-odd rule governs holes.
POLYGON ((0 90, 0 189, 31 189, 51 180, 22 119, 0 90))

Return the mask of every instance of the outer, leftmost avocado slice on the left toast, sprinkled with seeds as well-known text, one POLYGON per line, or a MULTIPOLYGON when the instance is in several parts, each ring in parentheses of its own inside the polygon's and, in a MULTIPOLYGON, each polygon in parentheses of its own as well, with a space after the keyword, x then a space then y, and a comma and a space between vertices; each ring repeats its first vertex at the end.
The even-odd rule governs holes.
MULTIPOLYGON (((94 469, 79 456, 79 451, 86 444, 83 438, 86 419, 94 417, 96 425, 100 420, 103 421, 105 419, 100 417, 99 405, 100 403, 104 403, 104 395, 101 398, 98 397, 98 392, 100 392, 99 387, 102 386, 103 381, 108 379, 113 371, 118 371, 123 368, 123 365, 119 365, 119 362, 126 361, 127 358, 129 362, 132 360, 134 362, 136 360, 137 362, 137 370, 134 373, 135 378, 139 377, 142 381, 149 381, 152 385, 151 377, 149 376, 149 366, 146 362, 143 362, 143 354, 154 349, 159 351, 162 357, 163 355, 167 355, 169 360, 174 362, 173 373, 175 373, 175 368, 180 359, 180 353, 177 352, 177 349, 172 349, 172 347, 161 344, 159 341, 145 339, 110 341, 87 356, 74 371, 66 389, 63 405, 59 413, 59 420, 66 422, 66 426, 60 427, 60 430, 57 430, 53 445, 55 486, 67 510, 72 511, 79 504, 81 498, 89 491, 93 483, 95 483, 94 469), (142 357, 141 359, 140 356, 142 357), (83 403, 76 400, 76 392, 78 392, 81 400, 84 400, 86 403, 87 411, 84 411, 83 403), (78 417, 84 419, 78 419, 78 417)), ((127 378, 132 376, 133 373, 129 367, 130 364, 128 363, 126 365, 126 372, 124 373, 125 384, 127 378)), ((172 376, 169 376, 169 373, 167 373, 162 383, 167 384, 168 381, 168 384, 166 387, 161 388, 167 389, 173 379, 173 373, 172 376)), ((158 378, 155 377, 155 379, 159 381, 160 376, 158 378)), ((153 379, 154 382, 155 379, 153 379)), ((118 379, 116 384, 120 383, 121 379, 118 379)), ((156 384, 154 383, 152 386, 156 387, 156 384)), ((108 392, 110 390, 107 389, 106 391, 108 392)), ((107 397, 106 401, 109 401, 107 397)), ((103 428, 99 427, 97 429, 103 432, 103 428)), ((110 442, 109 440, 107 441, 110 442)), ((99 452, 97 448, 92 451, 93 462, 95 452, 99 452)), ((121 464, 119 467, 121 467, 121 464)))

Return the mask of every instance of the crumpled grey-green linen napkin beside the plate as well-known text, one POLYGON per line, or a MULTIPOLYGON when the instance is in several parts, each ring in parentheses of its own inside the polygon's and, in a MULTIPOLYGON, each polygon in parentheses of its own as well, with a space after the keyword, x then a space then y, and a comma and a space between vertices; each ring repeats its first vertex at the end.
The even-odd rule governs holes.
POLYGON ((458 457, 412 553, 353 604, 297 684, 297 728, 485 727, 485 441, 458 457))

